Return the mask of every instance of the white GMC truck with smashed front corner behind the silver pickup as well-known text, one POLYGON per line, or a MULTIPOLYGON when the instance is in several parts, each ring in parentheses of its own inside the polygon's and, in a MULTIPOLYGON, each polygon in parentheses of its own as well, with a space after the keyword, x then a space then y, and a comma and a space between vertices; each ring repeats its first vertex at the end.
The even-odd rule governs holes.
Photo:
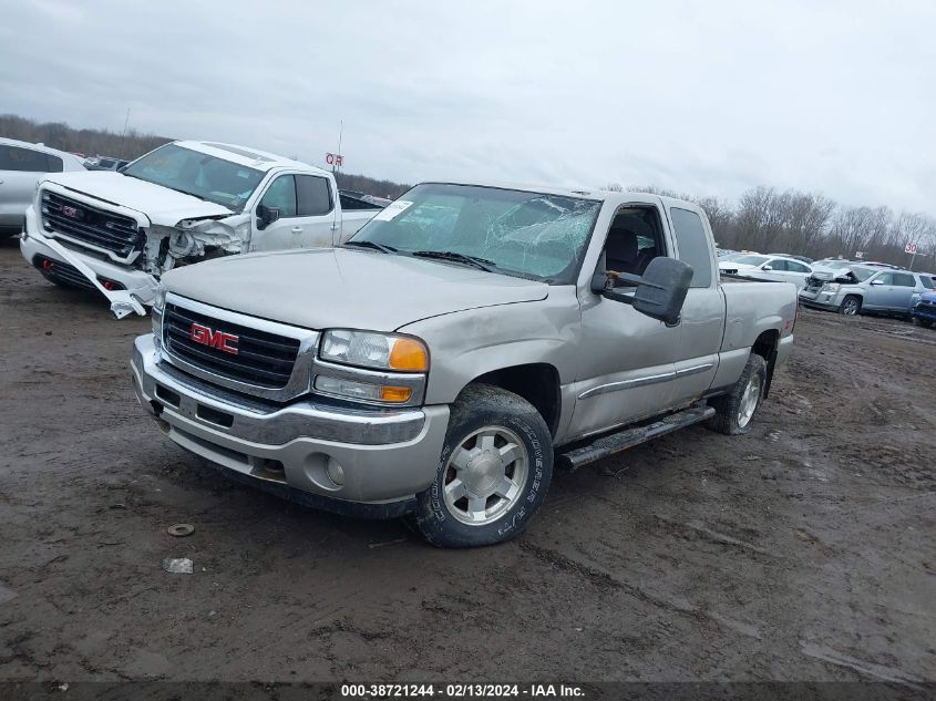
POLYGON ((243 146, 183 141, 117 173, 49 175, 27 210, 20 249, 51 282, 99 290, 120 319, 145 315, 160 278, 173 268, 335 246, 380 209, 343 212, 335 177, 321 168, 243 146))

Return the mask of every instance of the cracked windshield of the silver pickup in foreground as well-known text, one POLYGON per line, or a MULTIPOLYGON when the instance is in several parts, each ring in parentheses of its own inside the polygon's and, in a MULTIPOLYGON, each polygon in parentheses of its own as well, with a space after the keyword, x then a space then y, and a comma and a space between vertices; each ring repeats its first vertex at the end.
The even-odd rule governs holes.
POLYGON ((467 185, 419 185, 348 243, 566 284, 600 203, 467 185))

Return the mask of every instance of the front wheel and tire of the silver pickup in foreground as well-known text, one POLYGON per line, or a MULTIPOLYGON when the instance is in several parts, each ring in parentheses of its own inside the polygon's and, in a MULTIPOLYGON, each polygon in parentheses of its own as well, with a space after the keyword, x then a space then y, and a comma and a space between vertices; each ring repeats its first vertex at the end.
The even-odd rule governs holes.
POLYGON ((553 443, 523 398, 475 384, 452 406, 445 445, 410 525, 439 547, 493 545, 523 532, 553 476, 553 443))

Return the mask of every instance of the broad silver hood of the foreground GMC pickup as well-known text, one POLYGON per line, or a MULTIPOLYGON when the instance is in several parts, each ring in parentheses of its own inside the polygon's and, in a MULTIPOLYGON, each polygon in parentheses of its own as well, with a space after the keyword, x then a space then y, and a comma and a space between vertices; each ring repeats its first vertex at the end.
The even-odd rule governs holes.
POLYGON ((463 309, 536 301, 549 293, 545 282, 344 248, 199 262, 167 272, 163 282, 169 292, 272 321, 377 331, 463 309))

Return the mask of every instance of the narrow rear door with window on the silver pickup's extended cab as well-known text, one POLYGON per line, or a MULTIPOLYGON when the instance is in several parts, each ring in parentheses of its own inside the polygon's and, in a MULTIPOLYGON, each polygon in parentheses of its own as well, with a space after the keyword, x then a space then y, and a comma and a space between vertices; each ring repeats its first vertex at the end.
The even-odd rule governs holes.
POLYGON ((679 259, 692 266, 692 282, 682 306, 673 359, 673 400, 685 403, 711 386, 724 334, 724 296, 718 286, 714 240, 701 210, 669 208, 679 259))

